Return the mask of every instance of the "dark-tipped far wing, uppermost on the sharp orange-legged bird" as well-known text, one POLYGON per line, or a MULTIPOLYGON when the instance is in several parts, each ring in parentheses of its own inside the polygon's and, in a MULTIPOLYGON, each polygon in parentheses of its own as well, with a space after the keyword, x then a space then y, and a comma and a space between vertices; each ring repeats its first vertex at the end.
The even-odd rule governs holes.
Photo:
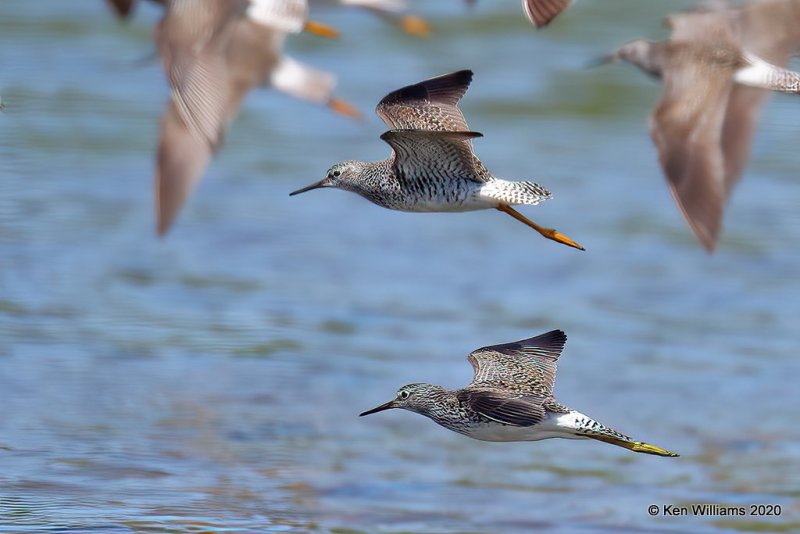
POLYGON ((472 71, 461 70, 391 92, 375 113, 393 130, 469 131, 458 102, 472 81, 472 71))

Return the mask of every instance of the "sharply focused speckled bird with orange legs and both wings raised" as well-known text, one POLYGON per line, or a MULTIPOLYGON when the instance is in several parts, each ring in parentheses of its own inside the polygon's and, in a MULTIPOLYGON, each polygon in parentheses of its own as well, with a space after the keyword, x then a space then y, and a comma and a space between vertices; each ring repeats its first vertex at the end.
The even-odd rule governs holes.
POLYGON ((403 87, 378 104, 378 116, 391 128, 381 136, 392 147, 383 161, 344 161, 325 178, 291 193, 335 187, 401 211, 458 212, 495 208, 541 235, 570 247, 581 245, 552 228, 543 228, 511 208, 536 205, 550 192, 534 182, 494 177, 472 151, 472 139, 458 102, 472 80, 462 70, 403 87))

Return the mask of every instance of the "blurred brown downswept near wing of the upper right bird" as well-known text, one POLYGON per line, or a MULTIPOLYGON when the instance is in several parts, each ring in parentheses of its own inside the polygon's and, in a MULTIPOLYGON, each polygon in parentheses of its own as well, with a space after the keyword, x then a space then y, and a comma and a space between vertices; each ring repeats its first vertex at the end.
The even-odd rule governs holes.
POLYGON ((722 127, 732 73, 675 58, 664 70, 664 96, 650 133, 673 197, 707 250, 714 249, 725 204, 722 127))

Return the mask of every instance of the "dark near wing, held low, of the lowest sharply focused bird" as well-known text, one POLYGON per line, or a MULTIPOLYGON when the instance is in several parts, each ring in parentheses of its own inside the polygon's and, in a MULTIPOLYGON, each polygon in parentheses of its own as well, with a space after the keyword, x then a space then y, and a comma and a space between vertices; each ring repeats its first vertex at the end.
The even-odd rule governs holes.
POLYGON ((533 426, 541 423, 545 417, 544 399, 536 395, 470 387, 460 390, 456 396, 482 416, 506 425, 533 426))

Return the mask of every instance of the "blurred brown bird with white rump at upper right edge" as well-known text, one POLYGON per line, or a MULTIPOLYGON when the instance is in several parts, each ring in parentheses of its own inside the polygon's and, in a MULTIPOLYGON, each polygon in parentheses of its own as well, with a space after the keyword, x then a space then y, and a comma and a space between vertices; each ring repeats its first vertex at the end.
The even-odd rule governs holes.
POLYGON ((715 2, 669 17, 668 40, 631 41, 606 58, 663 80, 651 135, 673 197, 709 252, 747 162, 765 89, 800 92, 800 74, 780 66, 800 48, 799 24, 798 0, 742 9, 715 2))

